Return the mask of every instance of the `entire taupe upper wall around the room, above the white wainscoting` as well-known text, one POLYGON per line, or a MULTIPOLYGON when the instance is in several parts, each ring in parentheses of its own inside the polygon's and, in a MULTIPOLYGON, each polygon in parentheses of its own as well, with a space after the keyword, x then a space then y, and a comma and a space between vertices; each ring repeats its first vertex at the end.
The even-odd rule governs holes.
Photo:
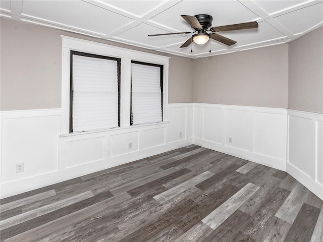
POLYGON ((1 18, 1 110, 61 107, 60 34, 171 56, 169 103, 323 113, 323 28, 290 44, 190 59, 1 18))

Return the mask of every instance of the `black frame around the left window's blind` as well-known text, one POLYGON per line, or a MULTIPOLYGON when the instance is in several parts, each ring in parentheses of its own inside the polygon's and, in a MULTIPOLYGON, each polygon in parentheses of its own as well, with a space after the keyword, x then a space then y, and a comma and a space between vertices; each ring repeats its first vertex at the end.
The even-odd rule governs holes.
POLYGON ((92 58, 100 58, 100 59, 110 59, 112 61, 117 62, 117 72, 118 72, 118 127, 120 127, 120 82, 121 82, 121 58, 106 56, 106 55, 99 55, 99 54, 92 54, 92 53, 86 53, 86 52, 80 52, 71 50, 71 61, 70 61, 70 133, 73 133, 73 55, 79 55, 79 56, 86 56, 86 57, 92 57, 92 58))

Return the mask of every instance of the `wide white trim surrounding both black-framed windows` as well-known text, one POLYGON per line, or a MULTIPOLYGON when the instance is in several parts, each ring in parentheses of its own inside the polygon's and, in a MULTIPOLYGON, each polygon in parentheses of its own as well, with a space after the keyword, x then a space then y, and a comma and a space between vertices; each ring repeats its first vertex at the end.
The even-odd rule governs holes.
MULTIPOLYGON (((168 120, 167 104, 168 104, 168 72, 169 59, 168 56, 151 54, 137 50, 116 47, 112 45, 97 43, 93 41, 78 39, 74 37, 62 37, 62 115, 61 115, 61 134, 68 135, 70 133, 70 65, 71 50, 86 52, 97 55, 105 55, 121 59, 120 72, 120 128, 135 127, 130 126, 130 77, 131 77, 131 61, 151 63, 163 65, 163 122, 168 120)), ((160 123, 156 123, 160 124, 160 123)), ((120 129, 120 128, 115 128, 120 129)), ((105 130, 106 131, 106 130, 105 130)), ((87 133, 82 132, 83 133, 87 133)))

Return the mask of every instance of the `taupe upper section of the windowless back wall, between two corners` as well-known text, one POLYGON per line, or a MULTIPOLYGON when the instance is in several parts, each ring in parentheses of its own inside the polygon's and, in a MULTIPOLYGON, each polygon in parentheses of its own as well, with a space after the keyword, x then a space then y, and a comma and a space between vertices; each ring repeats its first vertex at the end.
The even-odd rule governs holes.
POLYGON ((194 102, 288 106, 288 44, 195 59, 194 70, 194 102))

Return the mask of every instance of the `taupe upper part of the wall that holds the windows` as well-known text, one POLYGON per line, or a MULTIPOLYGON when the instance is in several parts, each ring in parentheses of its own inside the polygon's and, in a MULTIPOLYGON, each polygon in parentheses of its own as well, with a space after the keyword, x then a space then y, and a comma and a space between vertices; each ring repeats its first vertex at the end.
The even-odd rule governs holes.
POLYGON ((26 110, 61 107, 60 35, 171 56, 169 103, 193 102, 193 59, 1 18, 1 107, 26 110), (186 68, 189 71, 180 71, 186 68))

